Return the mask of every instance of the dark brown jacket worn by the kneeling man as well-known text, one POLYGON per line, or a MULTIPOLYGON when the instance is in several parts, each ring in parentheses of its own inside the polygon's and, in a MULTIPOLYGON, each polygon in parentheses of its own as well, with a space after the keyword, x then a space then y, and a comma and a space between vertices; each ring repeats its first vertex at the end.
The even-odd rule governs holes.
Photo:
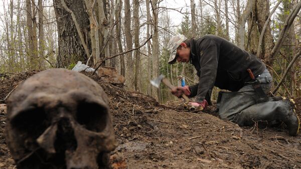
MULTIPOLYGON (((254 55, 231 42, 214 35, 191 41, 190 62, 198 71, 199 83, 189 86, 196 102, 210 99, 213 86, 238 91, 251 81, 247 69, 254 76, 265 70, 265 65, 254 55)), ((209 101, 209 100, 208 100, 209 101)))

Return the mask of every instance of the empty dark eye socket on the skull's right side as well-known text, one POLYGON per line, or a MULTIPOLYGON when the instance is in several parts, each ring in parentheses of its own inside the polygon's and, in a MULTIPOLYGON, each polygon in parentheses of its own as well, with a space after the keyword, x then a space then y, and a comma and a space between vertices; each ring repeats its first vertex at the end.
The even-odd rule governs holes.
POLYGON ((86 129, 101 132, 106 127, 107 113, 107 108, 98 103, 79 103, 76 119, 86 129))

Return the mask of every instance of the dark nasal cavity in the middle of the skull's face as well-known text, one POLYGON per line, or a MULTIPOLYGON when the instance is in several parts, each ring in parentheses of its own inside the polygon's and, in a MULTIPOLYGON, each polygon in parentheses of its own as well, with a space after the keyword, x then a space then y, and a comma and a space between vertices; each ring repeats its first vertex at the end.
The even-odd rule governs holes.
POLYGON ((62 156, 64 156, 66 150, 74 151, 76 149, 77 141, 69 119, 62 118, 58 121, 57 125, 58 130, 56 133, 54 147, 58 154, 62 154, 62 156))

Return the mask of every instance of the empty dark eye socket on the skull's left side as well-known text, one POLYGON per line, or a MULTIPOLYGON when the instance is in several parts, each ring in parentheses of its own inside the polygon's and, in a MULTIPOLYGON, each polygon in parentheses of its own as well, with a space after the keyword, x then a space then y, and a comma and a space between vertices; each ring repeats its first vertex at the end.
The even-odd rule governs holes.
POLYGON ((31 138, 38 138, 50 125, 44 108, 30 107, 19 112, 11 121, 20 133, 27 133, 31 138))

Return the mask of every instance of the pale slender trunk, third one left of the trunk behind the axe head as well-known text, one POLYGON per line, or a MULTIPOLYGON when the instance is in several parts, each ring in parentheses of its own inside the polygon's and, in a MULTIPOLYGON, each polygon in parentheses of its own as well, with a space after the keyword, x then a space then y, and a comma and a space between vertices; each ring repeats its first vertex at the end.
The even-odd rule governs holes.
MULTIPOLYGON (((124 36, 126 42, 126 50, 132 49, 133 40, 130 33, 131 28, 131 12, 130 12, 130 4, 129 0, 124 0, 124 36)), ((126 73, 125 79, 127 80, 127 86, 132 87, 133 85, 133 59, 132 59, 132 52, 128 52, 126 54, 126 73)))

